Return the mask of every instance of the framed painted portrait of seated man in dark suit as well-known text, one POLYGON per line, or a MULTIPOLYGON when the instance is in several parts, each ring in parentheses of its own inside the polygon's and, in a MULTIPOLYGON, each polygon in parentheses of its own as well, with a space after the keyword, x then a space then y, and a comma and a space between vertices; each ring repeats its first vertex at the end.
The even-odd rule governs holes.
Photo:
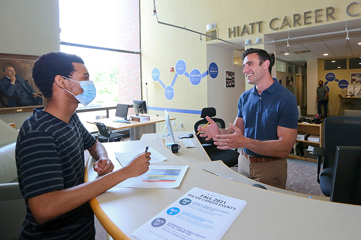
POLYGON ((39 56, 0 53, 0 114, 32 112, 44 98, 31 76, 39 56))

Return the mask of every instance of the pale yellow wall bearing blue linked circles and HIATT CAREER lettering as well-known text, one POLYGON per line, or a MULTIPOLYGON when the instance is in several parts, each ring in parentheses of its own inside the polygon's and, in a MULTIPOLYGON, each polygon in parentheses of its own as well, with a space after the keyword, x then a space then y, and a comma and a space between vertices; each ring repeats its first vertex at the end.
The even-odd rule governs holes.
MULTIPOLYGON (((251 39, 254 43, 256 38, 261 38, 264 41, 264 34, 288 31, 293 29, 300 29, 305 27, 312 27, 322 24, 332 24, 337 22, 343 22, 346 20, 354 20, 361 18, 361 15, 357 17, 350 17, 346 14, 346 7, 351 0, 339 1, 339 0, 326 0, 326 1, 246 1, 246 0, 156 0, 156 8, 158 13, 158 19, 161 22, 167 24, 174 24, 178 26, 185 26, 189 29, 205 33, 206 25, 216 23, 219 30, 219 37, 224 40, 232 41, 238 45, 244 45, 246 39, 251 39), (334 13, 333 19, 326 21, 326 8, 333 7, 334 13), (319 17, 322 20, 321 23, 315 23, 315 10, 323 9, 319 17), (311 11, 308 22, 311 24, 304 24, 304 12, 311 11), (302 16, 300 23, 301 26, 293 26, 293 15, 300 14, 302 16), (290 21, 291 27, 283 26, 282 29, 272 30, 269 27, 269 23, 273 18, 278 18, 275 21, 273 27, 280 27, 284 17, 287 17, 290 21), (254 25, 253 34, 245 33, 243 36, 228 38, 228 28, 233 26, 240 26, 241 30, 244 24, 250 27, 250 23, 263 21, 261 26, 261 32, 258 33, 258 28, 254 25)), ((352 13, 361 12, 361 4, 354 4, 350 9, 352 13)), ((183 59, 187 64, 187 72, 196 68, 201 73, 207 71, 207 48, 206 45, 214 45, 226 50, 238 49, 242 50, 244 47, 234 47, 229 44, 220 45, 220 41, 215 43, 205 43, 205 37, 203 42, 199 42, 199 35, 170 27, 163 24, 158 24, 153 13, 153 2, 151 0, 140 0, 140 25, 141 25, 141 74, 142 78, 151 78, 151 71, 154 67, 158 67, 161 72, 161 80, 167 86, 173 81, 175 72, 169 72, 169 68, 175 66, 175 63, 179 59, 183 59)), ((250 31, 250 28, 249 28, 250 31)), ((274 44, 260 44, 247 47, 264 48, 267 51, 275 52, 274 44)), ((233 68, 232 60, 230 60, 229 68, 233 68)), ((317 59, 315 59, 317 62, 317 59)), ((308 65, 308 64, 307 64, 308 65)), ((227 68, 227 67, 224 67, 227 68)), ((223 71, 223 70, 222 70, 223 71)), ((238 71, 238 70, 237 70, 238 71)), ((242 70, 241 70, 242 71, 242 70)), ((308 70, 307 70, 308 71, 308 70)), ((317 70, 311 71, 313 75, 307 74, 307 79, 313 81, 317 78, 317 70)), ((217 108, 217 117, 228 118, 226 122, 233 121, 237 111, 237 100, 245 89, 249 89, 252 86, 248 86, 245 81, 244 75, 239 75, 239 83, 244 84, 242 88, 235 91, 225 91, 221 89, 219 84, 212 84, 211 81, 222 81, 221 74, 219 77, 211 79, 209 76, 202 78, 201 83, 198 86, 192 86, 189 79, 186 76, 178 76, 174 84, 174 99, 168 101, 164 96, 164 88, 159 82, 150 81, 148 84, 148 105, 157 108, 173 108, 182 110, 195 110, 200 111, 203 107, 211 106, 217 103, 217 106, 222 108, 231 108, 234 112, 231 116, 219 116, 218 112, 222 112, 217 108), (219 78, 219 79, 218 79, 219 78), (222 94, 214 94, 220 90, 222 94), (233 120, 231 120, 233 119, 233 120)), ((276 66, 274 68, 273 76, 276 76, 276 66)), ((282 79, 283 80, 283 79, 282 79)), ((219 82, 218 82, 219 83, 219 82)), ((307 82, 307 103, 311 106, 310 111, 307 113, 314 114, 315 106, 315 87, 313 83, 307 82), (311 93, 312 92, 312 93, 311 93)), ((143 84, 143 99, 145 96, 145 85, 143 84)), ((333 107, 333 106, 332 106, 333 107)), ((162 110, 154 111, 150 110, 150 114, 163 115, 162 110)), ((330 114, 333 114, 333 109, 330 114)), ((223 111, 222 114, 228 114, 223 111)), ((180 130, 192 130, 194 122, 199 120, 197 114, 183 114, 170 112, 171 117, 176 117, 175 127, 183 122, 184 128, 180 130)), ((173 127, 174 128, 174 127, 173 127)), ((163 127, 161 126, 161 130, 163 127)))

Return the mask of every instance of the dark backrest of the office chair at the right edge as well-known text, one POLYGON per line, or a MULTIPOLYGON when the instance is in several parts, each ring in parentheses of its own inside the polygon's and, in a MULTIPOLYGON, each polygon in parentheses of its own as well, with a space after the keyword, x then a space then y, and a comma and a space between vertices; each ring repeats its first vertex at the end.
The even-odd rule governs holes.
POLYGON ((336 146, 361 146, 361 117, 329 117, 324 124, 325 169, 334 165, 336 146))

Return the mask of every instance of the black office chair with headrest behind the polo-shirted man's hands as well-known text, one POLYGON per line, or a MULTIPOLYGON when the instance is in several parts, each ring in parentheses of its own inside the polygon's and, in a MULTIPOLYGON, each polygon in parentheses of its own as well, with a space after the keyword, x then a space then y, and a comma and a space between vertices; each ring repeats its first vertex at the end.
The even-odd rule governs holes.
MULTIPOLYGON (((213 118, 214 116, 216 116, 216 109, 214 107, 206 107, 202 109, 200 115, 202 120, 199 120, 194 124, 195 133, 198 132, 198 127, 203 127, 205 124, 207 124, 208 121, 205 119, 206 116, 214 120, 219 128, 225 128, 225 123, 222 119, 213 118)), ((233 167, 238 164, 239 152, 237 152, 237 150, 218 149, 217 146, 214 144, 213 140, 206 141, 205 137, 200 137, 199 135, 197 135, 197 138, 212 161, 222 160, 222 162, 228 167, 233 167)))

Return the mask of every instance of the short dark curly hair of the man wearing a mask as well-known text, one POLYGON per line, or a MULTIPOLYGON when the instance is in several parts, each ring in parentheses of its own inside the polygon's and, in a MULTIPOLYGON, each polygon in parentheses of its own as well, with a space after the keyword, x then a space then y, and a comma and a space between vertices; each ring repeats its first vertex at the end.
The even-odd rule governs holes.
POLYGON ((84 64, 81 57, 65 52, 49 52, 40 56, 32 68, 32 78, 40 92, 48 100, 53 96, 56 75, 70 77, 75 71, 73 63, 84 64))

